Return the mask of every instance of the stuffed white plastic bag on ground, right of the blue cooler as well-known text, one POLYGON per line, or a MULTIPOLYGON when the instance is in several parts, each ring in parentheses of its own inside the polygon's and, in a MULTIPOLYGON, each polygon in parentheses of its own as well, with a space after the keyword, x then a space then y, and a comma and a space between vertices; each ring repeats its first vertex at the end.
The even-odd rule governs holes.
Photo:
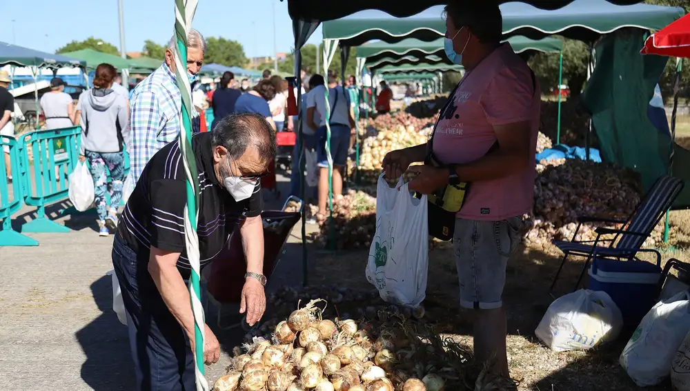
POLYGON ((673 356, 690 331, 689 299, 684 291, 656 303, 625 345, 620 365, 640 387, 659 384, 671 373, 673 356))

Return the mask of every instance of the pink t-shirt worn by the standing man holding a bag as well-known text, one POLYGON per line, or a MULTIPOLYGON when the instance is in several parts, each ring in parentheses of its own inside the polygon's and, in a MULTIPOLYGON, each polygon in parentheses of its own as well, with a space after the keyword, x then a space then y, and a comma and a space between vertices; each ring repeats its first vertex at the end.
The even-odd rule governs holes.
POLYGON ((449 99, 453 103, 441 113, 433 140, 433 153, 445 164, 469 163, 484 157, 496 142, 493 126, 522 121, 532 124, 533 158, 529 166, 509 177, 473 181, 457 217, 499 221, 529 212, 534 196, 541 97, 527 64, 504 43, 477 68, 465 73, 449 99))

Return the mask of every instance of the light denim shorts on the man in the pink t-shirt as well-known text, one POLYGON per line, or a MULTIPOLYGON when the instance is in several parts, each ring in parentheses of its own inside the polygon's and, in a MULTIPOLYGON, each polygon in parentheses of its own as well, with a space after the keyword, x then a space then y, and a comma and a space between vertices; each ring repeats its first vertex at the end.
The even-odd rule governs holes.
POLYGON ((506 263, 524 228, 522 217, 501 221, 455 220, 453 248, 460 305, 491 310, 502 305, 506 263))

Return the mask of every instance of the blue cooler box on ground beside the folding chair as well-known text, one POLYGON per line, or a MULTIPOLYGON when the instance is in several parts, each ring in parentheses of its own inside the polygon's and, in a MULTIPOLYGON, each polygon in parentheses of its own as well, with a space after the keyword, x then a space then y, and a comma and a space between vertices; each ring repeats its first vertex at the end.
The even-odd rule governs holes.
POLYGON ((589 268, 590 290, 607 292, 623 315, 623 324, 637 327, 656 304, 660 265, 645 261, 594 259, 589 268))

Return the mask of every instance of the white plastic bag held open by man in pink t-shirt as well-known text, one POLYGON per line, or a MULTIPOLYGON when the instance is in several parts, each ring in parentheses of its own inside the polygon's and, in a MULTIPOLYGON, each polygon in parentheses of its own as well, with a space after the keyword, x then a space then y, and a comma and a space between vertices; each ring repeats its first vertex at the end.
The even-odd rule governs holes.
POLYGON ((416 199, 402 180, 395 188, 379 178, 376 234, 366 264, 366 279, 389 303, 419 306, 426 297, 428 222, 426 196, 416 199), (400 190, 398 190, 400 186, 400 190))

